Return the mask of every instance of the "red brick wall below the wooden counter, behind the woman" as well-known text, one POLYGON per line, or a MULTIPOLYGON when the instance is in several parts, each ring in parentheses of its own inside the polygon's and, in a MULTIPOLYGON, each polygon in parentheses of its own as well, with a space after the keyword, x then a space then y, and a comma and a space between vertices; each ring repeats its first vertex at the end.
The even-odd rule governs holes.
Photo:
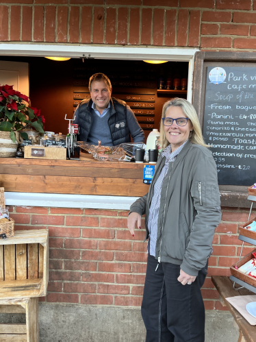
MULTIPOLYGON (((49 229, 49 286, 42 302, 140 306, 146 271, 144 223, 132 237, 128 211, 16 206, 10 212, 16 230, 49 229)), ((242 244, 238 224, 247 219, 248 209, 222 208, 202 289, 207 310, 223 310, 210 276, 230 275, 242 244)), ((252 249, 245 244, 243 255, 252 249)))

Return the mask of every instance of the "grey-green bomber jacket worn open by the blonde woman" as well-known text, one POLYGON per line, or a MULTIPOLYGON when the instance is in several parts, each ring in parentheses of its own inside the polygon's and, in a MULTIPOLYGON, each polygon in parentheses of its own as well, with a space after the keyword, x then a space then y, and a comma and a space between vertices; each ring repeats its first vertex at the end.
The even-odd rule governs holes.
MULTIPOLYGON (((165 157, 159 156, 149 193, 131 205, 131 212, 146 214, 146 239, 153 186, 164 162, 165 157)), ((175 162, 170 162, 162 184, 155 258, 181 265, 185 273, 197 276, 212 253, 214 230, 220 219, 214 158, 207 148, 188 141, 175 162)))

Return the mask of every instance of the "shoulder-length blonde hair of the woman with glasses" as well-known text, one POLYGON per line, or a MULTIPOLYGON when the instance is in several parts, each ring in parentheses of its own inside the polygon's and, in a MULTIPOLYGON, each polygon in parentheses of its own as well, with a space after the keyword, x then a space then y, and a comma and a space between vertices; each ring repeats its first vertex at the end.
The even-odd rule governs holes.
MULTIPOLYGON (((190 119, 192 123, 193 130, 190 132, 189 139, 192 144, 201 145, 204 147, 209 147, 205 144, 203 140, 203 134, 201 131, 199 118, 197 117, 196 110, 192 106, 190 102, 185 99, 181 99, 179 97, 175 97, 174 99, 170 99, 164 103, 163 110, 162 110, 162 118, 166 117, 166 112, 170 107, 181 107, 185 116, 190 119)), ((162 141, 162 147, 165 148, 166 146, 170 145, 168 140, 166 139, 166 134, 164 132, 164 124, 161 120, 160 123, 160 139, 162 141)))

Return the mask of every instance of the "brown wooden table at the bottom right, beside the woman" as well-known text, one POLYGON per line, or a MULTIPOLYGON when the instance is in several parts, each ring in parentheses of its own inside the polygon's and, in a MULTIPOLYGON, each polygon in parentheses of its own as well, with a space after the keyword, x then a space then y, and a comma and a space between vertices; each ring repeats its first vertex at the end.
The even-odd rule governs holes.
POLYGON ((227 300, 227 297, 235 297, 237 295, 255 295, 255 293, 248 291, 247 289, 241 289, 235 291, 233 289, 233 282, 229 280, 228 277, 224 276, 212 276, 212 282, 216 287, 218 293, 220 293, 220 302, 223 306, 227 306, 235 322, 238 324, 240 329, 238 342, 256 342, 256 326, 251 326, 251 324, 240 315, 238 310, 236 310, 227 300))

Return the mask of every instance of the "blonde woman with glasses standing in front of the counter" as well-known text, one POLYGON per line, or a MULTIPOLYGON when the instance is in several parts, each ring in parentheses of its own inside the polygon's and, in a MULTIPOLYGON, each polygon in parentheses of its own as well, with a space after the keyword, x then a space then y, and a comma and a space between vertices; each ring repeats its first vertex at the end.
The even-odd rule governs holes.
POLYGON ((164 150, 149 193, 131 205, 127 223, 134 235, 146 214, 146 342, 203 342, 200 289, 221 219, 216 164, 203 141, 196 110, 185 99, 164 104, 160 134, 164 150))

